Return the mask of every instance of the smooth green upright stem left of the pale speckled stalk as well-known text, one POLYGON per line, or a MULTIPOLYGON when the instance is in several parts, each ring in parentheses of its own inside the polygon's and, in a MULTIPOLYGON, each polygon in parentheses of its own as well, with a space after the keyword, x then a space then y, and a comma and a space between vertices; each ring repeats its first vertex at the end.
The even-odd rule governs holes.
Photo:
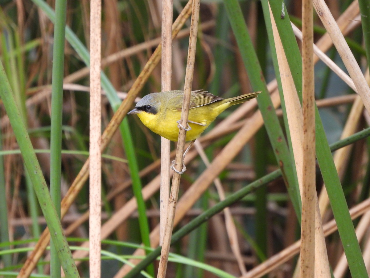
MULTIPOLYGON (((55 11, 53 72, 51 83, 50 195, 54 203, 55 211, 60 218, 64 42, 67 1, 55 1, 55 11)), ((60 277, 60 262, 52 240, 50 241, 50 274, 55 278, 60 277)))

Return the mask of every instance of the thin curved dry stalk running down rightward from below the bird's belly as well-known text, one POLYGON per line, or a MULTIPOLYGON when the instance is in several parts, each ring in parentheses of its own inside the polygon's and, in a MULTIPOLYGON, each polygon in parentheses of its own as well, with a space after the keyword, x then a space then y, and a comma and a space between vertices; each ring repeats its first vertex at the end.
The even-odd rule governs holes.
MULTIPOLYGON (((195 141, 194 146, 199 153, 199 156, 203 160, 203 163, 209 167, 211 163, 209 163, 209 160, 207 158, 206 153, 204 152, 204 149, 201 145, 200 142, 195 141)), ((223 190, 221 180, 217 177, 214 179, 213 183, 215 183, 216 190, 218 193, 218 196, 220 198, 220 201, 225 200, 225 191, 223 190)), ((223 210, 225 213, 225 227, 226 227, 226 232, 229 237, 229 243, 231 246, 231 250, 236 258, 236 261, 238 262, 238 266, 240 269, 240 272, 242 275, 245 275, 247 273, 247 270, 245 268, 245 264, 243 262, 243 257, 242 254, 240 253, 240 248, 239 248, 239 242, 238 242, 238 233, 236 231, 236 226, 235 223, 232 219, 231 211, 230 208, 225 208, 223 210)))

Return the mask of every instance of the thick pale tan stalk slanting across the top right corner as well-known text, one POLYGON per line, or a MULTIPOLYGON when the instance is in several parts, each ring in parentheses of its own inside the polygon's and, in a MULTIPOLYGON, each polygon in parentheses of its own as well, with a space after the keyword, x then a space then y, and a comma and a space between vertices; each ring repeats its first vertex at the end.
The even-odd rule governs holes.
POLYGON ((329 8, 323 0, 313 0, 313 6, 319 15, 327 33, 333 41, 340 57, 346 66, 350 77, 353 80, 354 85, 361 96, 361 99, 366 107, 368 113, 370 113, 370 87, 367 85, 363 73, 356 59, 353 56, 344 36, 334 20, 329 8))

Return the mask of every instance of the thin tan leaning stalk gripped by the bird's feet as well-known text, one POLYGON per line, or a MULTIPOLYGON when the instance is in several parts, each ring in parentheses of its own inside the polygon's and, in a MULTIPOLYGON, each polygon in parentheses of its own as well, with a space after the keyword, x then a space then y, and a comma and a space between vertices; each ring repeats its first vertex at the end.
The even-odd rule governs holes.
MULTIPOLYGON (((198 21, 199 21, 199 7, 200 0, 193 0, 192 14, 191 14, 191 25, 190 25, 190 37, 189 37, 189 50, 188 50, 188 61, 186 63, 186 73, 185 73, 185 85, 184 85, 184 99, 182 102, 181 109, 181 125, 188 126, 188 116, 189 116, 189 105, 191 96, 191 86, 193 83, 194 74, 194 63, 195 63, 195 50, 196 50, 196 39, 198 34, 198 21)), ((181 128, 179 131, 177 151, 175 157, 175 169, 181 171, 183 163, 183 154, 185 146, 186 130, 181 128)), ((177 172, 172 176, 172 186, 171 193, 169 196, 168 203, 168 214, 165 226, 165 232, 163 236, 163 245, 161 250, 161 258, 159 260, 158 276, 166 276, 166 268, 168 262, 169 247, 171 245, 172 229, 174 226, 176 203, 179 193, 181 175, 177 172)))

